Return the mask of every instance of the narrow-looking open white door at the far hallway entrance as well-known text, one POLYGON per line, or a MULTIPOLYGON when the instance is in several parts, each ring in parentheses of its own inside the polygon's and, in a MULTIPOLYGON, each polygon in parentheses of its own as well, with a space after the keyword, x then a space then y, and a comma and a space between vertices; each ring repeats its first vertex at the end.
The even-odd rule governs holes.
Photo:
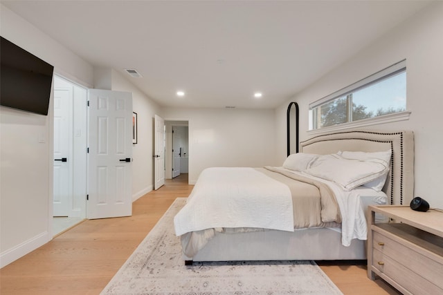
POLYGON ((165 184, 165 120, 154 117, 154 189, 165 184))

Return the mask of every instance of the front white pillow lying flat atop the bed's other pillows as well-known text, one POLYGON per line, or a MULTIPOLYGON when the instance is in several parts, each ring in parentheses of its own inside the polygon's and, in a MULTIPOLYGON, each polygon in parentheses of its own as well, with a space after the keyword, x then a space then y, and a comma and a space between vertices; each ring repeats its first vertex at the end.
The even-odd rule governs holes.
POLYGON ((389 165, 377 158, 366 160, 346 159, 341 155, 323 155, 305 173, 330 180, 350 191, 371 182, 389 171, 389 165))

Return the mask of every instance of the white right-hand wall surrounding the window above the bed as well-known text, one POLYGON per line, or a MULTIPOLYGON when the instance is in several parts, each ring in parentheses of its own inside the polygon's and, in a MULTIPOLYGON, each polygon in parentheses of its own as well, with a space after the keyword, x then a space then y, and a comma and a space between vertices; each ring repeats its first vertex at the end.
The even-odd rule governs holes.
MULTIPOLYGON (((291 99, 300 105, 300 140, 309 138, 308 104, 406 58, 407 121, 368 129, 415 133, 415 196, 443 208, 443 2, 437 1, 291 99)), ((289 104, 289 101, 288 101, 289 104)), ((278 108, 278 160, 286 154, 286 109, 278 108), (284 131, 284 133, 282 132, 284 131)))

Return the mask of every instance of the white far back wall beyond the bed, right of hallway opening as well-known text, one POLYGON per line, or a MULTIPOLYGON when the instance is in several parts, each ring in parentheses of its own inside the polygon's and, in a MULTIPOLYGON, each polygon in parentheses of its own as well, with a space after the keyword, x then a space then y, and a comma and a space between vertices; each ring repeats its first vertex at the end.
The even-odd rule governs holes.
POLYGON ((189 182, 211 166, 275 164, 273 110, 162 108, 165 120, 189 122, 189 182))

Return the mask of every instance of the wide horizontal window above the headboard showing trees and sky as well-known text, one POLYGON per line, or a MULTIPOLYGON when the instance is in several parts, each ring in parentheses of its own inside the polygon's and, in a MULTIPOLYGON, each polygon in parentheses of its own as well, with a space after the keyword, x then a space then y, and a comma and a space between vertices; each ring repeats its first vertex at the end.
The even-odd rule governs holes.
POLYGON ((406 111, 406 60, 309 105, 309 130, 406 111))

